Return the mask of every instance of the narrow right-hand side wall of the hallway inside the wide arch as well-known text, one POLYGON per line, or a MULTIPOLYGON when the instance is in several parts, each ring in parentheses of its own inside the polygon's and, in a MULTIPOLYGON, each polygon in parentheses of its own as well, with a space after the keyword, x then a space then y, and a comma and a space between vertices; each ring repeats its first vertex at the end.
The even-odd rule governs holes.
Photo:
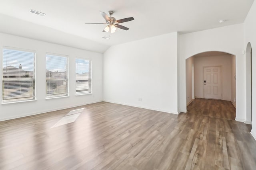
POLYGON ((236 107, 236 56, 231 57, 231 102, 236 107))

